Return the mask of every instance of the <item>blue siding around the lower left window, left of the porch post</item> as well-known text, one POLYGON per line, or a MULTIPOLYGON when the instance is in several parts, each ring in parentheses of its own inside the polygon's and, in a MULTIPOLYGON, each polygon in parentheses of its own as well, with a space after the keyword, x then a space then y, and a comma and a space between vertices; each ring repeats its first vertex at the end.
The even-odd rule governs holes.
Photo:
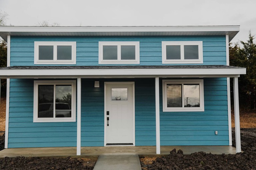
POLYGON ((76 146, 76 122, 33 123, 33 79, 10 79, 8 148, 76 146))

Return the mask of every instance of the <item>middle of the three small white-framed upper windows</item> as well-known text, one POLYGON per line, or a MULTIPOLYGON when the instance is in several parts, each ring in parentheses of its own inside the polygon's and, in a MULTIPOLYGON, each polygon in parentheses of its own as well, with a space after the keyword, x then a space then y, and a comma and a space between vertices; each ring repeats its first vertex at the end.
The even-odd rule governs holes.
POLYGON ((139 42, 99 42, 99 64, 139 64, 139 42))

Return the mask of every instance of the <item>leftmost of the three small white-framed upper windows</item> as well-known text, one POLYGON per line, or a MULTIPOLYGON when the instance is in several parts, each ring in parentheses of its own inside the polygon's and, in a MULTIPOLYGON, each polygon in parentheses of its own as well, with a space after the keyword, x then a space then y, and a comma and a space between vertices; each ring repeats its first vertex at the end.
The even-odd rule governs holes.
POLYGON ((34 64, 76 64, 76 42, 35 42, 34 64))

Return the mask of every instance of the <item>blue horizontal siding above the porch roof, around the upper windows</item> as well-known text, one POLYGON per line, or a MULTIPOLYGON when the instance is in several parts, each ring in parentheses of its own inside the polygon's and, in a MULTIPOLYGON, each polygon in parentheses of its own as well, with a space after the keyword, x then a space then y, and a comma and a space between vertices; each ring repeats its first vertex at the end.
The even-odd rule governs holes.
MULTIPOLYGON (((162 41, 203 41, 203 65, 226 65, 225 36, 209 37, 11 37, 11 66, 34 65, 35 41, 75 41, 76 65, 99 65, 99 41, 139 41, 139 65, 162 64, 162 41)), ((100 64, 105 65, 105 64, 100 64)), ((107 64, 106 64, 107 65, 107 64)), ((118 65, 118 64, 117 64, 118 65)), ((124 65, 124 64, 122 64, 124 65)), ((131 65, 131 64, 127 64, 131 65)), ((172 65, 172 64, 168 64, 172 65)), ((177 65, 177 64, 175 64, 177 65)), ((182 64, 178 64, 182 65, 182 64)), ((191 64, 185 64, 191 65, 191 64)))

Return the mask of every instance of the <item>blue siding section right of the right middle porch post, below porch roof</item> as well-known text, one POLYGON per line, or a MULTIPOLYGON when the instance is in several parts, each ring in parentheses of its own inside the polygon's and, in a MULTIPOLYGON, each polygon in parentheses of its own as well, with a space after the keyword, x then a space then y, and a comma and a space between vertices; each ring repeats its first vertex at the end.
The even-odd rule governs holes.
POLYGON ((226 78, 204 78, 204 112, 162 112, 162 99, 160 80, 161 145, 229 145, 226 78))

